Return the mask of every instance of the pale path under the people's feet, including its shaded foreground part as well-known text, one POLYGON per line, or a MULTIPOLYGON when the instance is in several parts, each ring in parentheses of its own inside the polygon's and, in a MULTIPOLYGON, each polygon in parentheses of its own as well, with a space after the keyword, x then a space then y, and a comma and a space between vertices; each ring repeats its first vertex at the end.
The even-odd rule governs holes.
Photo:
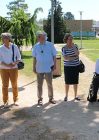
POLYGON ((86 72, 80 74, 80 102, 73 100, 72 87, 69 101, 63 101, 65 94, 62 75, 53 79, 57 104, 48 103, 47 86, 44 82, 44 105, 37 107, 36 79, 20 75, 20 105, 11 105, 12 92, 9 88, 10 106, 6 109, 0 107, 0 140, 99 140, 99 103, 89 104, 86 101, 94 63, 84 55, 81 55, 81 59, 86 65, 86 72))

